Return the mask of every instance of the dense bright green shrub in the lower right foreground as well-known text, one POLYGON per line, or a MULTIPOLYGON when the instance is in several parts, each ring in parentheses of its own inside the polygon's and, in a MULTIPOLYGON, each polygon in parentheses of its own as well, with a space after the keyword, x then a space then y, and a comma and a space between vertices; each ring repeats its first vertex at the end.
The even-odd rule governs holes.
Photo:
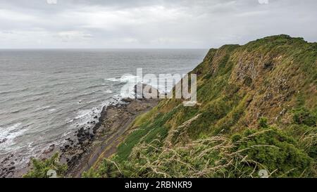
POLYGON ((241 154, 249 159, 249 165, 243 167, 246 169, 244 171, 259 167, 273 173, 273 177, 303 177, 313 174, 313 159, 297 148, 294 139, 278 129, 263 129, 261 132, 249 130, 236 143, 236 150, 242 151, 241 154))

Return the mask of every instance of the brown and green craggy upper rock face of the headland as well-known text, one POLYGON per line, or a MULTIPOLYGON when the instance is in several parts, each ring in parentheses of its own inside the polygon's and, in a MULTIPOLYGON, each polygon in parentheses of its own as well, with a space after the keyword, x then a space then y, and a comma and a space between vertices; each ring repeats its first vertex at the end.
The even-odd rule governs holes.
POLYGON ((193 71, 200 79, 198 100, 212 101, 208 92, 218 97, 239 96, 240 101, 247 96, 249 103, 239 126, 252 126, 259 117, 268 117, 271 123, 276 117, 286 117, 300 94, 307 96, 307 107, 315 108, 316 99, 311 96, 316 96, 316 52, 316 43, 287 35, 211 49, 193 71))

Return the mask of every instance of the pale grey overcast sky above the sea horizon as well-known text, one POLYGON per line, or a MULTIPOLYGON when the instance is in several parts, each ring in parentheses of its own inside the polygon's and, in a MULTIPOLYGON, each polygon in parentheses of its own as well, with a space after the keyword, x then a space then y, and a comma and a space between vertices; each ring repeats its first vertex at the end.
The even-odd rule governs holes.
POLYGON ((317 1, 0 0, 1 49, 206 49, 273 34, 317 41, 317 1))

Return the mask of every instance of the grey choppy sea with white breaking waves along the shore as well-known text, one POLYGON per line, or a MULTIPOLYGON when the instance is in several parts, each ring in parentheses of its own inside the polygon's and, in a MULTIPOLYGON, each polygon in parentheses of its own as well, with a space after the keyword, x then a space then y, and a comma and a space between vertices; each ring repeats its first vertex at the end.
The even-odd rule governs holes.
POLYGON ((207 51, 0 50, 0 169, 8 155, 18 169, 52 144, 63 145, 77 127, 124 97, 121 89, 135 84, 138 68, 144 75, 186 74, 207 51))

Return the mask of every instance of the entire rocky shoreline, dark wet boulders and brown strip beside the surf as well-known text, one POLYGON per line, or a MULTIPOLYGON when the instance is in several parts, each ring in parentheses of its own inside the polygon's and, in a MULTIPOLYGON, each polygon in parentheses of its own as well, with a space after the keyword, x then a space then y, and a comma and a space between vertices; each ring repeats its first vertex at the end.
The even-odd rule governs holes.
MULTIPOLYGON (((87 122, 87 126, 78 127, 62 146, 52 144, 44 149, 39 158, 46 159, 54 153, 59 153, 61 162, 68 165, 67 177, 80 177, 83 171, 87 171, 94 161, 97 161, 104 148, 113 145, 110 147, 111 152, 108 151, 105 157, 115 153, 116 140, 124 134, 132 120, 158 102, 157 98, 123 98, 118 103, 110 103, 102 108, 99 117, 96 115, 91 122, 87 122), (108 142, 109 139, 111 141, 108 142)), ((9 162, 11 158, 13 154, 5 161, 9 162)), ((7 165, 0 169, 0 177, 22 177, 32 166, 30 162, 23 169, 15 169, 12 162, 7 165)))

